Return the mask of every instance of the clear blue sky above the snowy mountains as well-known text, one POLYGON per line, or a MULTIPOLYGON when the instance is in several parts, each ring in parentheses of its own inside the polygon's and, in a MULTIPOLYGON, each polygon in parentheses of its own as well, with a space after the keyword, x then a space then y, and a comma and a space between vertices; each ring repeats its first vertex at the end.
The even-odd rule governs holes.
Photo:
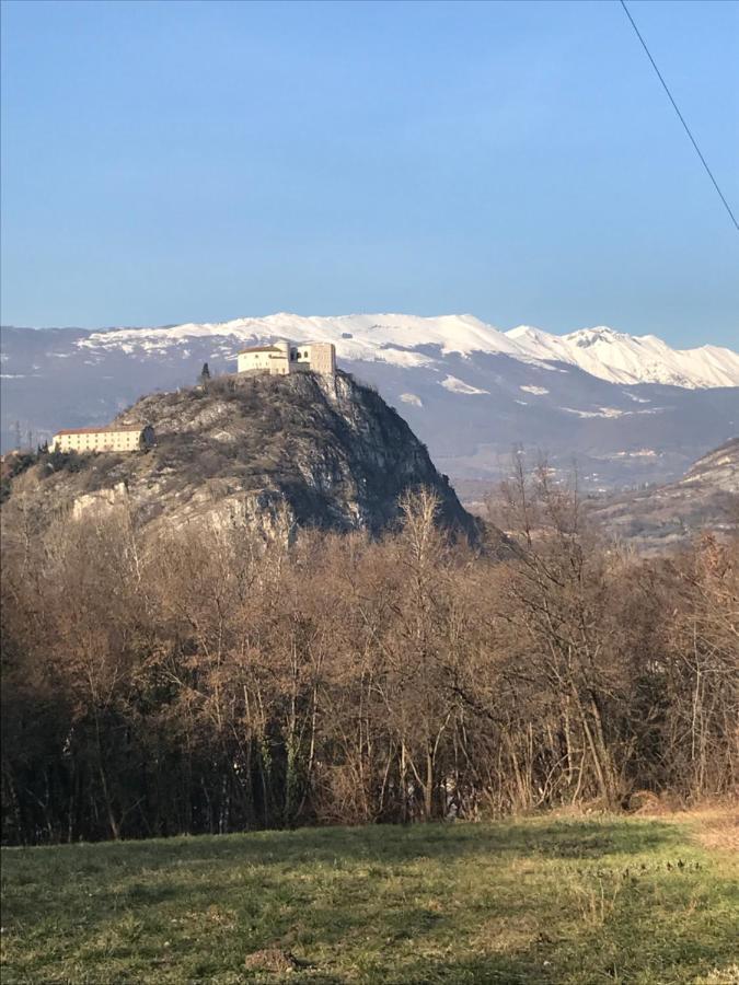
MULTIPOLYGON (((630 9, 739 213, 739 3, 630 9)), ((2 5, 2 320, 471 312, 739 348, 615 0, 2 5)))

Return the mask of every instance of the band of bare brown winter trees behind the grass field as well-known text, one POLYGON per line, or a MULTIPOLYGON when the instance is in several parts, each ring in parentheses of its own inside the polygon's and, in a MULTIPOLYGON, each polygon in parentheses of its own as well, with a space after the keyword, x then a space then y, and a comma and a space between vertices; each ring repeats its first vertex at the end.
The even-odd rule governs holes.
POLYGON ((12 497, 3 842, 735 791, 739 542, 639 559, 545 467, 504 493, 505 560, 425 490, 381 540, 48 526, 12 497))

